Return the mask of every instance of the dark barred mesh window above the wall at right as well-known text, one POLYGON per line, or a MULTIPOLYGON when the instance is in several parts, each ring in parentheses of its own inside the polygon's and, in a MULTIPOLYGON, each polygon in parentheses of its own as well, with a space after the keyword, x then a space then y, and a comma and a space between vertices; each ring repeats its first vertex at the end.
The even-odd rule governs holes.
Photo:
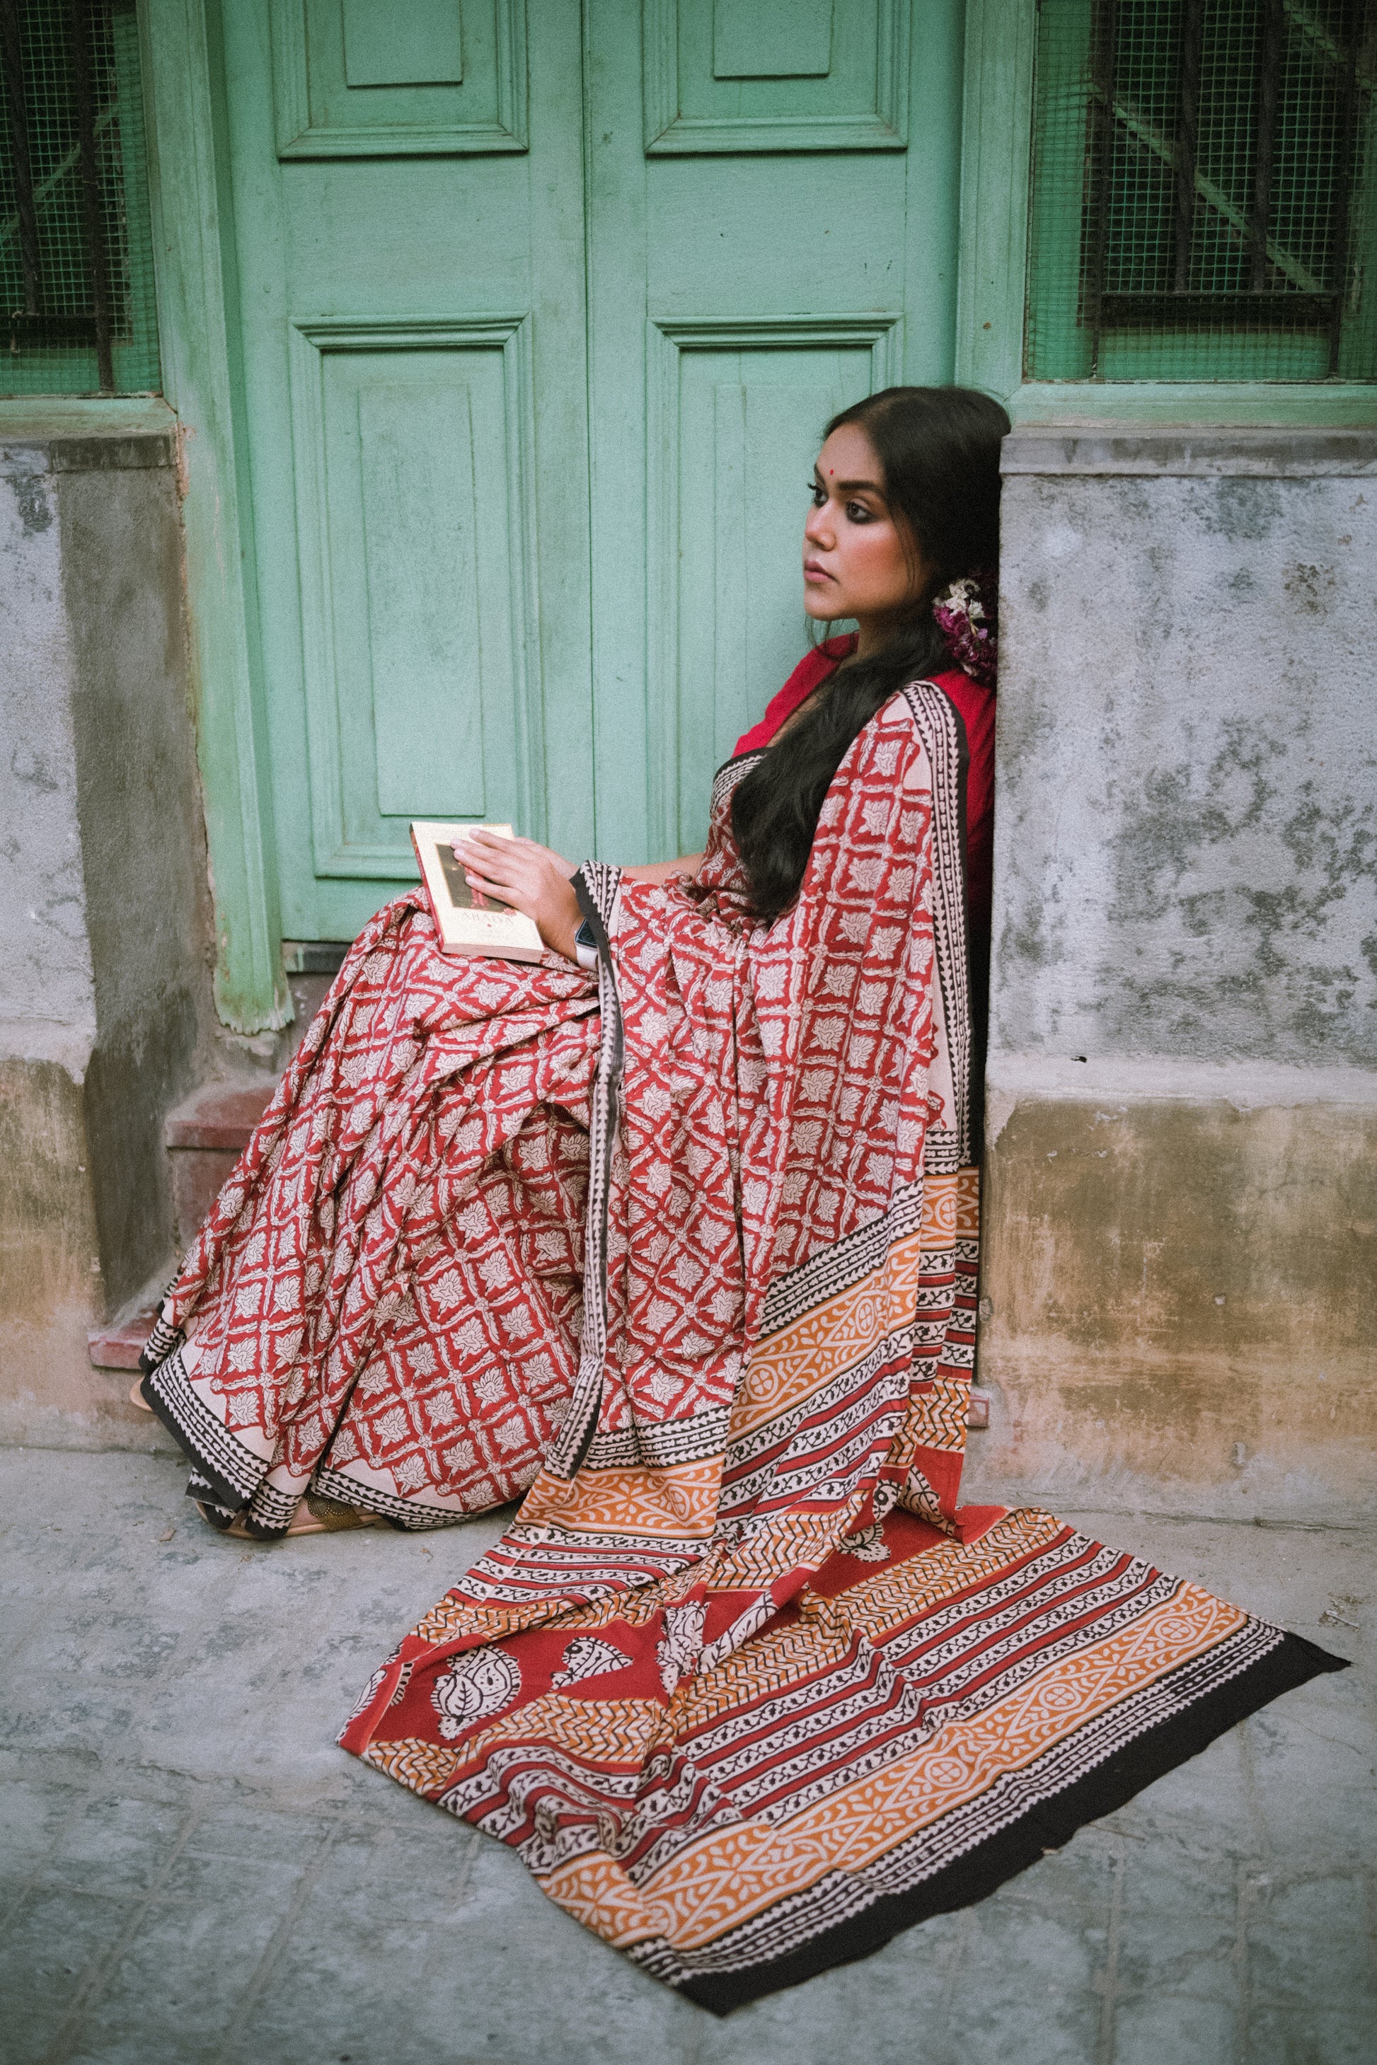
POLYGON ((1377 380, 1375 0, 1040 0, 1028 380, 1377 380))

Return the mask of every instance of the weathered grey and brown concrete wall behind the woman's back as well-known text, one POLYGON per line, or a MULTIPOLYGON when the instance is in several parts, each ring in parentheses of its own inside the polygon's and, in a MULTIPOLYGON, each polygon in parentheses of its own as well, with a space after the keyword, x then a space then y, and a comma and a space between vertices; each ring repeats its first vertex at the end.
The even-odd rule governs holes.
POLYGON ((1377 432, 1005 446, 979 1470, 1371 1510, 1377 432))

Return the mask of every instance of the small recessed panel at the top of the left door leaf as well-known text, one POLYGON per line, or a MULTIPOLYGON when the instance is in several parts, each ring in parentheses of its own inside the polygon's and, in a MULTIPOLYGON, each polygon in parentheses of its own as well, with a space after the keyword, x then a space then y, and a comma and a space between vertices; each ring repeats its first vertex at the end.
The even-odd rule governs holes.
POLYGON ((277 155, 526 149, 526 0, 270 0, 277 155))

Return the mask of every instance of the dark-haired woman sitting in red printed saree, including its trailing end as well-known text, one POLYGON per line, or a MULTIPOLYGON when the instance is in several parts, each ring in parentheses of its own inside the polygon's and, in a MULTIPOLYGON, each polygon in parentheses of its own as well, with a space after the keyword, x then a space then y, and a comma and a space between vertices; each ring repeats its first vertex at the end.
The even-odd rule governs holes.
MULTIPOLYGON (((489 1493, 535 1458, 508 1532, 341 1741, 714 2011, 979 1898, 1338 1669, 1049 1514, 958 1503, 979 1225, 962 814, 989 704, 946 665, 935 607, 950 632, 954 580, 993 560, 1003 427, 983 396, 912 388, 828 425, 805 597, 855 615, 857 644, 718 772, 692 873, 586 863, 570 892, 553 855, 469 840, 555 954, 586 927, 597 995, 553 962, 436 968, 415 900, 374 921, 149 1377, 173 1425, 190 1392, 248 1435, 252 1487, 198 1456, 258 1530, 264 1487, 281 1532, 312 1470, 403 1520, 460 1495, 436 1476, 407 1510, 382 1441, 341 1458, 370 1381, 409 1427, 448 1398, 431 1448, 487 1439, 489 1493), (291 1365, 268 1363, 279 1282, 291 1365), (454 1336, 446 1390, 415 1344, 456 1326, 481 1332, 454 1336), (506 1476, 483 1381, 526 1415, 506 1476), (275 1388, 279 1421, 258 1406, 275 1388)), ((968 607, 976 663, 983 632, 968 607)))

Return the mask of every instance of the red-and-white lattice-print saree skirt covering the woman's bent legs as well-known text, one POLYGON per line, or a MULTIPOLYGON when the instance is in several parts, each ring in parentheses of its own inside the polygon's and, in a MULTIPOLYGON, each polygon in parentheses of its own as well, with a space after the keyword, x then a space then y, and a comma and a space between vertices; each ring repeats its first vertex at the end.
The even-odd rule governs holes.
POLYGON ((372 919, 147 1351, 198 1497, 273 1536, 308 1489, 409 1528, 526 1489, 578 1365, 597 1039, 568 962, 446 960, 415 890, 372 919))

